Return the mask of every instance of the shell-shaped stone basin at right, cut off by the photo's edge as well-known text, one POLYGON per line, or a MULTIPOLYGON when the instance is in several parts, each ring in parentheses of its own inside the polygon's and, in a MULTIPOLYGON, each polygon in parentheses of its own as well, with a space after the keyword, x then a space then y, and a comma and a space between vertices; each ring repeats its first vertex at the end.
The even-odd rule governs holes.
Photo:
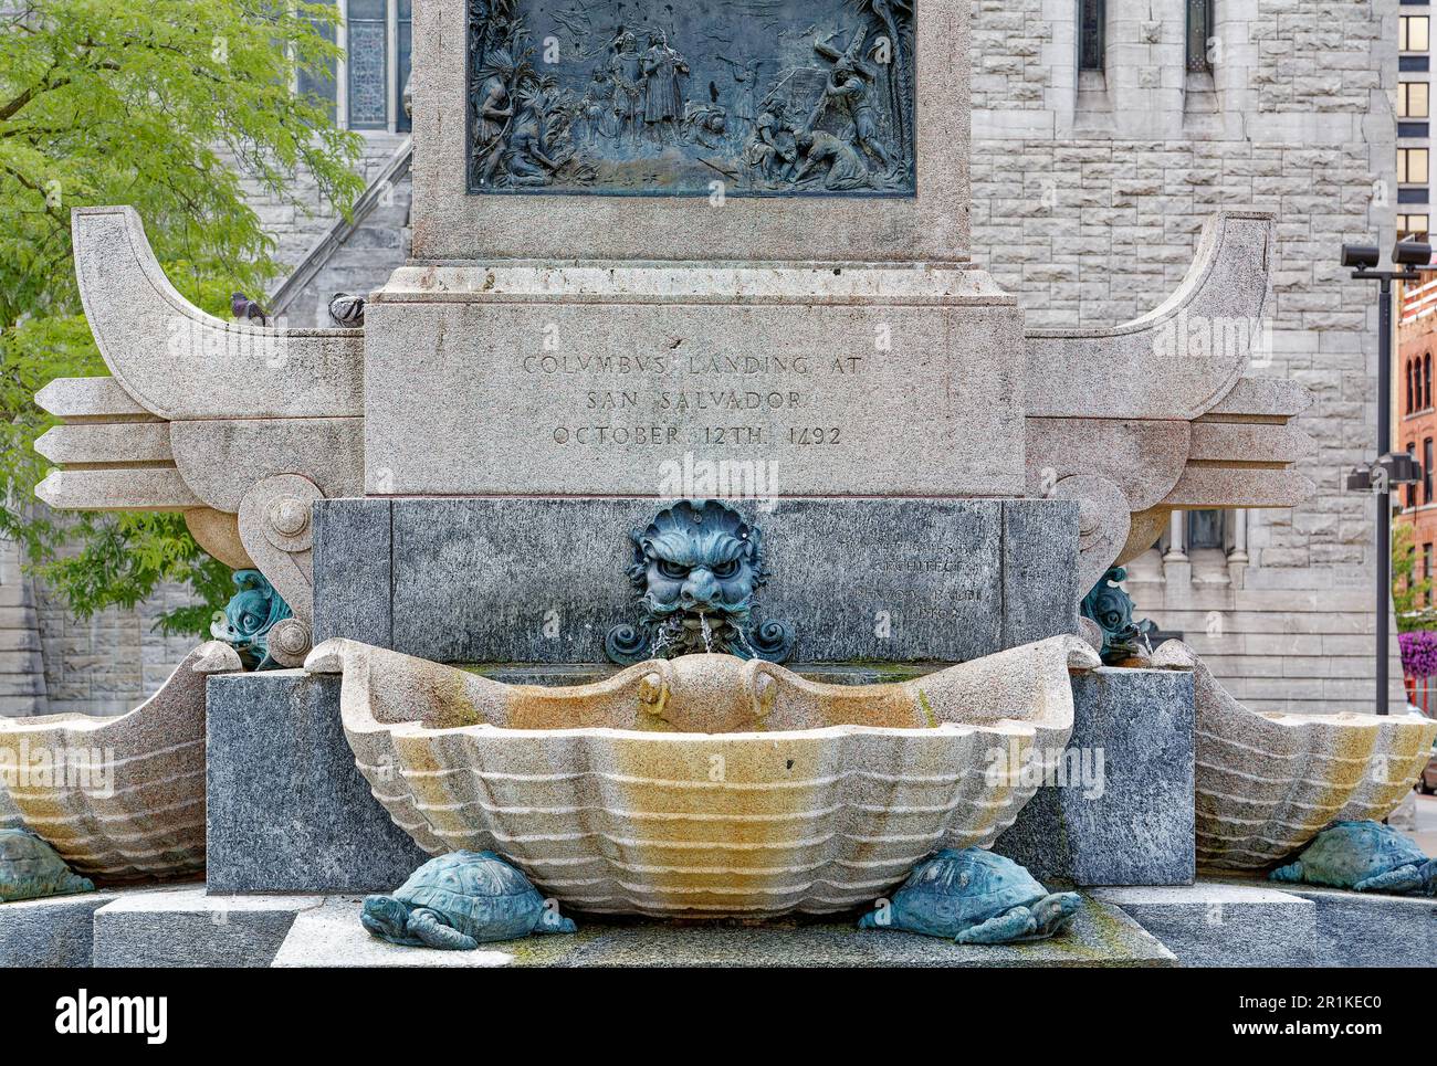
POLYGON ((1382 820, 1431 757, 1421 714, 1257 713, 1237 703, 1186 645, 1158 648, 1193 669, 1197 711, 1197 863, 1263 869, 1332 822, 1382 820))

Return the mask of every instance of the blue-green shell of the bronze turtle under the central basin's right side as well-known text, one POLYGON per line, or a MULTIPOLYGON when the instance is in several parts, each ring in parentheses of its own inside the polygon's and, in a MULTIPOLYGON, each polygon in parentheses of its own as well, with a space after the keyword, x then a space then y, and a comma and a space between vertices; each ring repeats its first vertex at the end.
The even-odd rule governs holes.
POLYGON ((917 921, 953 937, 1046 895, 1048 889, 1012 859, 980 848, 947 848, 914 866, 894 892, 892 905, 900 928, 917 921))

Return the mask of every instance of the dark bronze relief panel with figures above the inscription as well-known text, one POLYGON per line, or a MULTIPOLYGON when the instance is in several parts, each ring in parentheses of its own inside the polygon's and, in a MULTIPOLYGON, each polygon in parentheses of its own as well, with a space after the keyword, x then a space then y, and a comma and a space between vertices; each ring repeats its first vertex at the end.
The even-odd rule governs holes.
POLYGON ((914 193, 911 0, 468 11, 471 193, 914 193))

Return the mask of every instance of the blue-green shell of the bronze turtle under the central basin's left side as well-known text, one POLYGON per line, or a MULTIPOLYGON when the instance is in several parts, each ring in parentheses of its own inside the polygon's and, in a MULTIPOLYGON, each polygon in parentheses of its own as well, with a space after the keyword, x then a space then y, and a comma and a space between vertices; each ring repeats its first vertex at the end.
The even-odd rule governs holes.
POLYGON ((479 941, 516 940, 539 925, 543 896, 529 879, 494 852, 448 852, 430 859, 394 898, 444 915, 479 941))

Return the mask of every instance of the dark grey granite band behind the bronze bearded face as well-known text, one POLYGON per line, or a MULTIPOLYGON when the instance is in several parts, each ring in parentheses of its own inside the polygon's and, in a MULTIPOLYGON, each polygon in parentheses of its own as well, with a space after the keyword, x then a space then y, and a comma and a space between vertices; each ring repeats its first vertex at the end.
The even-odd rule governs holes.
MULTIPOLYGON (((629 536, 661 506, 319 501, 316 642, 351 636, 440 662, 604 662, 605 634, 635 618, 629 536), (391 596, 391 636, 382 639, 391 596)), ((960 662, 1072 629, 1073 578, 1063 578, 1076 552, 1071 503, 736 506, 760 529, 770 573, 756 615, 795 626, 793 662, 960 662)))

